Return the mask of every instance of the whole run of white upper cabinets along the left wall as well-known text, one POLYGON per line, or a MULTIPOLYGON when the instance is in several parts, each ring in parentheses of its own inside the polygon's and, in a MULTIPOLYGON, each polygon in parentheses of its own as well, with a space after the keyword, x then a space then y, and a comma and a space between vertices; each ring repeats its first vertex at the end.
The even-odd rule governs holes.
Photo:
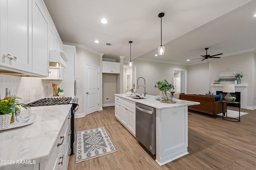
POLYGON ((46 77, 62 45, 43 0, 0 0, 0 70, 46 77))

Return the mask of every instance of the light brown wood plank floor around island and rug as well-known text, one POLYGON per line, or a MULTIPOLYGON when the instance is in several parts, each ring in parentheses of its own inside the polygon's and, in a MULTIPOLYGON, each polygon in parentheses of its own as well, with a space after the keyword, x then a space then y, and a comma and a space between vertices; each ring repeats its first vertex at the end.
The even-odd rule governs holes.
POLYGON ((189 154, 159 166, 115 119, 114 106, 103 107, 103 111, 75 119, 76 131, 105 127, 118 151, 78 164, 72 155, 68 170, 254 170, 256 110, 241 111, 248 114, 241 116, 240 122, 189 111, 189 154))

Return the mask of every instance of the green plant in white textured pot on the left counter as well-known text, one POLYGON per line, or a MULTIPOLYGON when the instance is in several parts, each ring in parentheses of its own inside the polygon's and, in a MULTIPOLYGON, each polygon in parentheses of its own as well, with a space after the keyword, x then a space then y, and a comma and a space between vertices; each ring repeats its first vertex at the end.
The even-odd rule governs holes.
POLYGON ((7 128, 10 123, 15 121, 15 111, 19 107, 26 108, 26 104, 19 103, 17 99, 21 99, 17 96, 6 97, 3 100, 0 100, 0 129, 7 128))

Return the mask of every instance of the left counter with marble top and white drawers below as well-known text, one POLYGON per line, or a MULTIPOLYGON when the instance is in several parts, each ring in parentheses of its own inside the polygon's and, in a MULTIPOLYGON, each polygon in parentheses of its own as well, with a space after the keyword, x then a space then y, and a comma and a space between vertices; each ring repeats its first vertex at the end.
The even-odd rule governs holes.
POLYGON ((72 104, 31 107, 36 114, 34 123, 0 131, 0 169, 45 170, 55 165, 63 168, 65 162, 58 164, 57 157, 60 153, 65 159, 71 107, 72 104), (62 134, 64 138, 59 139, 62 134), (58 143, 63 145, 55 146, 58 143))

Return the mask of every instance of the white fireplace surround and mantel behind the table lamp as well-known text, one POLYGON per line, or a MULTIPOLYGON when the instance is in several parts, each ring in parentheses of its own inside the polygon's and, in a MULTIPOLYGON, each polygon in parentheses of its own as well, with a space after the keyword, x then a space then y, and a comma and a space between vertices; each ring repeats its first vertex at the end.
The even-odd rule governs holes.
MULTIPOLYGON (((223 91, 223 84, 210 84, 212 86, 212 93, 216 94, 216 91, 223 91)), ((240 92, 240 104, 241 108, 247 108, 247 84, 235 84, 235 91, 240 92)))

